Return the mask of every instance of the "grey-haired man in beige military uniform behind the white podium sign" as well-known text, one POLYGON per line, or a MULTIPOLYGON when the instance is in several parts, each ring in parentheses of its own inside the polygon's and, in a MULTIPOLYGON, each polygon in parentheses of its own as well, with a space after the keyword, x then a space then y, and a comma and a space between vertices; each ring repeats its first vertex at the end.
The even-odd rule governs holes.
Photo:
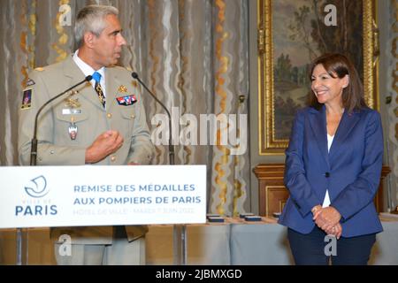
MULTIPOLYGON (((119 11, 89 5, 76 19, 79 49, 65 61, 34 70, 19 110, 19 164, 30 162, 34 116, 51 97, 84 80, 45 108, 38 119, 37 164, 149 164, 153 145, 140 89, 126 69, 115 66, 122 46, 119 11)), ((144 264, 146 226, 53 228, 57 264, 144 264), (62 234, 72 255, 58 252, 62 234)))

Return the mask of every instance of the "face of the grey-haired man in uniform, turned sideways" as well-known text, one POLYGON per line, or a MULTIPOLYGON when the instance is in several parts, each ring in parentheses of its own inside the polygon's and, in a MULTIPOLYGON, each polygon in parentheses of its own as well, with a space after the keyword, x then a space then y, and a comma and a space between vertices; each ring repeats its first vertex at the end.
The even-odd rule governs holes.
POLYGON ((120 34, 121 26, 118 17, 108 15, 105 21, 105 29, 93 39, 93 59, 98 68, 118 63, 122 46, 126 45, 126 40, 120 34))

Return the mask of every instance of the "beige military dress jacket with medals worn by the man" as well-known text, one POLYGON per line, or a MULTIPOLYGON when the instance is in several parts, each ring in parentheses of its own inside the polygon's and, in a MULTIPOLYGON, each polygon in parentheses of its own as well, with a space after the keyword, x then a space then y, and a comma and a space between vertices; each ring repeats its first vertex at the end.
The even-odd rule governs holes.
MULTIPOLYGON (((84 78, 73 57, 30 73, 19 110, 19 164, 30 164, 34 116, 42 104, 84 78)), ((62 96, 42 111, 37 126, 38 165, 85 164, 86 149, 107 130, 119 131, 124 143, 117 152, 96 164, 150 163, 153 144, 140 88, 134 84, 131 73, 118 66, 105 68, 105 80, 106 110, 96 90, 87 82, 75 88, 72 96, 62 96), (71 126, 77 129, 75 136, 71 126)), ((147 231, 146 226, 126 226, 129 241, 147 231)), ((61 233, 71 235, 74 243, 107 244, 111 243, 112 227, 59 228, 53 232, 56 232, 54 237, 61 233)))

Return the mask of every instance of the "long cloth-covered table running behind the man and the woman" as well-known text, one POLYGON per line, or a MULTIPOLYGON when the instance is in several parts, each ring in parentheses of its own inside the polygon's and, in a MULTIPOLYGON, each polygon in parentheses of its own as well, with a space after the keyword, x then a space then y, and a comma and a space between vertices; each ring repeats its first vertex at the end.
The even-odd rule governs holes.
MULTIPOLYGON (((294 264, 287 228, 274 219, 187 226, 187 264, 294 264)), ((398 264, 398 221, 382 221, 369 264, 398 264)), ((172 225, 149 226, 147 264, 173 264, 172 225)), ((49 229, 29 229, 29 264, 55 264, 49 229)), ((0 264, 15 264, 15 230, 0 230, 0 264)))

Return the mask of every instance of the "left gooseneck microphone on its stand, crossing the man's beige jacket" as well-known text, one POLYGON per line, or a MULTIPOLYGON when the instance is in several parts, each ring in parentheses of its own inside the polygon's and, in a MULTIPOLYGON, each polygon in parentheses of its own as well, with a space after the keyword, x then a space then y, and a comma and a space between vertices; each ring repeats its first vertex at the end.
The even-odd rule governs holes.
MULTIPOLYGON (((82 83, 86 81, 92 80, 93 77, 88 75, 84 80, 81 80, 79 83, 75 84, 73 87, 66 89, 65 91, 61 92, 59 95, 52 97, 49 101, 46 103, 42 104, 42 107, 37 111, 36 116, 34 118, 34 135, 32 138, 31 142, 31 147, 30 147, 30 165, 35 166, 36 165, 36 159, 37 159, 37 120, 39 118, 40 113, 46 107, 49 103, 53 102, 56 100, 59 96, 64 96, 65 93, 68 91, 72 90, 73 88, 79 87, 82 83)), ((17 259, 16 259, 16 264, 17 265, 26 265, 27 264, 27 256, 28 256, 28 249, 27 249, 27 241, 28 241, 28 234, 27 232, 24 232, 24 229, 22 228, 17 228, 17 259), (22 250, 25 250, 26 253, 22 255, 22 250)))

